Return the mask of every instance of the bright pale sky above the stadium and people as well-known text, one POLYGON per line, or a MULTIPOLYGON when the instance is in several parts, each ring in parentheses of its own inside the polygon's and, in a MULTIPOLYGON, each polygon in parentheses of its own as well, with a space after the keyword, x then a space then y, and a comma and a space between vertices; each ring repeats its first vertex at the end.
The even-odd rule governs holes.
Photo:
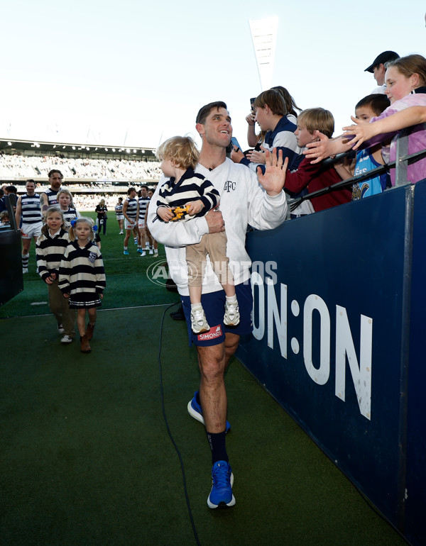
POLYGON ((249 19, 279 18, 274 85, 322 106, 336 131, 376 87, 384 50, 426 55, 420 0, 229 2, 14 0, 2 6, 0 138, 156 147, 195 135, 203 104, 224 100, 246 143, 261 92, 249 19))

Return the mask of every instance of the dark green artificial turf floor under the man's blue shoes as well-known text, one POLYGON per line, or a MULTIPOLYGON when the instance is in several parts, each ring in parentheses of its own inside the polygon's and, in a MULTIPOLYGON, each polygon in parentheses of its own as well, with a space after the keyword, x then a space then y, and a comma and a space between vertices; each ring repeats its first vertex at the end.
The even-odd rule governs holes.
POLYGON ((162 391, 201 545, 404 543, 236 360, 236 506, 210 510, 209 446, 187 413, 197 356, 169 311, 160 341, 164 310, 99 311, 88 355, 60 345, 51 316, 6 319, 16 342, 0 362, 2 545, 195 545, 162 391))

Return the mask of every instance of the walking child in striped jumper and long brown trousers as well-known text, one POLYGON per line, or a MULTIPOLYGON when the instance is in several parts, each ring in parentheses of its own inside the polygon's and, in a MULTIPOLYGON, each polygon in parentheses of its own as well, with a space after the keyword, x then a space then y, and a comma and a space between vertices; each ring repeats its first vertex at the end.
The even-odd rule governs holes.
POLYGON ((58 322, 58 332, 63 334, 61 343, 72 342, 75 336, 75 311, 70 309, 58 286, 59 266, 70 243, 62 211, 55 206, 45 213, 45 225, 35 244, 38 274, 48 285, 50 311, 58 322))

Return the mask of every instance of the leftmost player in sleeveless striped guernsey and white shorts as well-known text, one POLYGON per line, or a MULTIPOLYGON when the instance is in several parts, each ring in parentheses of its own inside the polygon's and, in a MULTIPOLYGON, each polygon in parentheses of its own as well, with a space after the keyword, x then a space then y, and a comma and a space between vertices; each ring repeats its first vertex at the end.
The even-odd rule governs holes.
POLYGON ((16 203, 16 225, 21 225, 22 238, 22 272, 28 273, 28 260, 30 257, 31 240, 37 243, 41 235, 41 206, 40 196, 35 193, 35 182, 30 179, 26 182, 26 194, 18 197, 16 203))

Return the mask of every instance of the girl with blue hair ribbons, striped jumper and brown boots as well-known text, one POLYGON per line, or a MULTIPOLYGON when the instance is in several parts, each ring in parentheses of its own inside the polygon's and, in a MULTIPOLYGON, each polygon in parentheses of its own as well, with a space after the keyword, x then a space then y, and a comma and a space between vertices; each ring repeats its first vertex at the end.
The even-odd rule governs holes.
POLYGON ((102 254, 93 243, 94 230, 91 218, 77 218, 70 228, 70 243, 60 262, 59 287, 77 309, 77 328, 80 333, 80 350, 90 352, 89 341, 93 337, 96 323, 96 308, 104 297, 105 271, 102 254), (89 323, 86 328, 86 311, 89 323))

